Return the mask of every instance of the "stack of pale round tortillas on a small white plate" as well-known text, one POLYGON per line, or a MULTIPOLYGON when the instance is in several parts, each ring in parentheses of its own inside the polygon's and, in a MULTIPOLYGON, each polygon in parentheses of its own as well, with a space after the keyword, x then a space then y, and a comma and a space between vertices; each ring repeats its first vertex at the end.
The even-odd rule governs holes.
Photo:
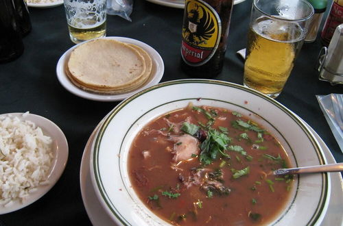
POLYGON ((119 94, 142 86, 152 72, 152 59, 141 47, 113 39, 96 39, 71 52, 66 73, 84 90, 119 94))

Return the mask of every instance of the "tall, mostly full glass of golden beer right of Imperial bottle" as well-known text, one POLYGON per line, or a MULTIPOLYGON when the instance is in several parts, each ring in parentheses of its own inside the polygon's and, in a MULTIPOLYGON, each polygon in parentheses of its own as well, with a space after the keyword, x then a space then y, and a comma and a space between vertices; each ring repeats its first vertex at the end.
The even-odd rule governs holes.
POLYGON ((278 97, 303 45, 314 8, 306 0, 254 0, 244 86, 278 97))

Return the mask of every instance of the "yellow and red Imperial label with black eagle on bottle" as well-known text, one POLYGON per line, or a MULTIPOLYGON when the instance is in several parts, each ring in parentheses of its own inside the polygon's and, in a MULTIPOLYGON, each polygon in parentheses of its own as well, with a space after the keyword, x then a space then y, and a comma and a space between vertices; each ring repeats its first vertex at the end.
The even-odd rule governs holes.
POLYGON ((208 62, 220 42, 222 23, 217 12, 201 0, 186 0, 182 26, 182 59, 190 66, 208 62))

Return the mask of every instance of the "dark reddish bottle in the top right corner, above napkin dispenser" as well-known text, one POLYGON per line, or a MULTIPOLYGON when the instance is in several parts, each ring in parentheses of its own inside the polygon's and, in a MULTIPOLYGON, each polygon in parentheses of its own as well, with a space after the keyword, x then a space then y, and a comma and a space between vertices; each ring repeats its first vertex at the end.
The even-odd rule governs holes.
POLYGON ((343 0, 333 0, 321 35, 322 42, 325 46, 329 45, 335 28, 341 23, 343 23, 343 0))

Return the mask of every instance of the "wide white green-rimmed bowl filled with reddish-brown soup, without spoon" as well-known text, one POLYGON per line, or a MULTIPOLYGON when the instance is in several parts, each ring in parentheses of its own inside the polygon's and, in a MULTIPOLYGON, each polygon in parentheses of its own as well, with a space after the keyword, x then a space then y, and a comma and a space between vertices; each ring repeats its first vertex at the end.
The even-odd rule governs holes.
POLYGON ((320 225, 325 164, 293 112, 224 81, 168 81, 119 103, 91 153, 97 198, 118 225, 320 225))

